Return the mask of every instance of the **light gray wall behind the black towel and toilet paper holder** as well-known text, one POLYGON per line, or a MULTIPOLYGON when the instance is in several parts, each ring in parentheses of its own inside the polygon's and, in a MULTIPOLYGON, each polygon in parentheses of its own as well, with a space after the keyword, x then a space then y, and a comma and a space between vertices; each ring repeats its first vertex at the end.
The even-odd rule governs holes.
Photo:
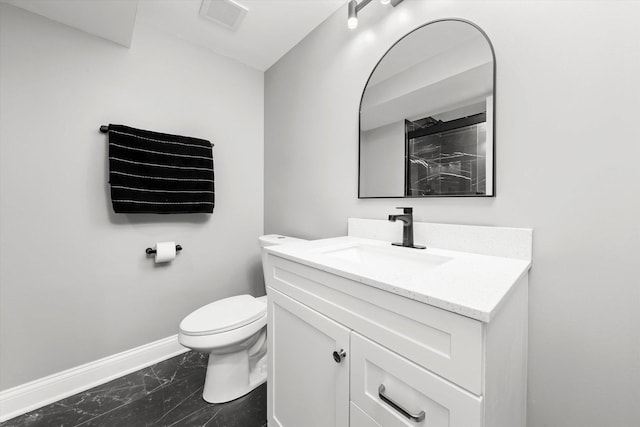
POLYGON ((126 49, 5 4, 0 43, 0 389, 263 294, 263 73, 140 25, 126 49), (212 140, 213 215, 113 214, 110 122, 212 140), (166 240, 184 251, 155 266, 144 249, 166 240))

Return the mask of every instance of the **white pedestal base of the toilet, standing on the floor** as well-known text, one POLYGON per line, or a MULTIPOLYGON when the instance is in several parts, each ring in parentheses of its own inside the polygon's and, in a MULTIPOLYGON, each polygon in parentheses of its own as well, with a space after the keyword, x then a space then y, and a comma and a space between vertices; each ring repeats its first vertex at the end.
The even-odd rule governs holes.
POLYGON ((210 353, 202 398, 209 403, 229 402, 266 381, 266 355, 250 364, 247 351, 222 355, 210 353))

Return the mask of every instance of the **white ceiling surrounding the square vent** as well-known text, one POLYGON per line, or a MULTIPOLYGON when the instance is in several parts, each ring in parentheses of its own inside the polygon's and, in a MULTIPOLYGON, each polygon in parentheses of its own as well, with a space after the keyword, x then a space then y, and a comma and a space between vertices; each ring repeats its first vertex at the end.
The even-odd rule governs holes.
POLYGON ((235 1, 249 12, 234 32, 200 17, 202 0, 0 0, 127 47, 150 25, 261 71, 347 0, 235 1))

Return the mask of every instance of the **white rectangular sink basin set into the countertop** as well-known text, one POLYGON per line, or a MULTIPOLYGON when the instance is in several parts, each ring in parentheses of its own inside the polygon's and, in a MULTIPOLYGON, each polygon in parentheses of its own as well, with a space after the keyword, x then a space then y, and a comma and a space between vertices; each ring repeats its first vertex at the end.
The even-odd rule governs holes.
POLYGON ((420 249, 398 246, 355 244, 322 251, 324 255, 368 266, 373 269, 393 269, 408 274, 426 273, 453 258, 433 255, 420 249))

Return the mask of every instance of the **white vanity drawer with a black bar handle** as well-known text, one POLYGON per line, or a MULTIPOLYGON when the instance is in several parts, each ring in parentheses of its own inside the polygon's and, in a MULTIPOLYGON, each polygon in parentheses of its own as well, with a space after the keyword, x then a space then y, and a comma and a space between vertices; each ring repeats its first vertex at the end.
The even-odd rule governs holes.
POLYGON ((482 397, 355 332, 351 333, 350 364, 351 400, 380 425, 482 426, 482 397), (407 415, 401 413, 403 409, 407 415))

